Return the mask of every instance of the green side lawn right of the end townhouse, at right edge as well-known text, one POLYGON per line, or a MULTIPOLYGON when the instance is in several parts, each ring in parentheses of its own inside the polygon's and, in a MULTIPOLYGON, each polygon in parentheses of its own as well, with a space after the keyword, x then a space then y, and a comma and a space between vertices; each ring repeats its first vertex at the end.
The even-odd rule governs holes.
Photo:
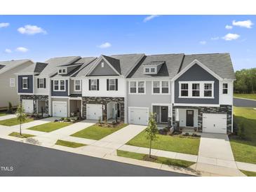
POLYGON ((234 122, 243 123, 245 139, 230 137, 230 144, 236 161, 256 164, 256 110, 234 107, 234 122))

